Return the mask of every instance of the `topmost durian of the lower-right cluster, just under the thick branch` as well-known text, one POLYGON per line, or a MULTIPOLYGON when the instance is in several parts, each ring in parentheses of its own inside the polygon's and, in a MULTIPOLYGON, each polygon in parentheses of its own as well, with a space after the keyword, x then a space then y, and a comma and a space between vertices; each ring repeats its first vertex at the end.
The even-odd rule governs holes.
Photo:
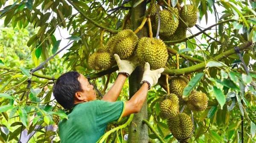
POLYGON ((189 80, 186 79, 183 76, 172 76, 170 78, 170 92, 175 93, 177 97, 179 98, 180 104, 183 104, 186 102, 186 99, 182 98, 183 90, 186 87, 186 85, 189 83, 189 80))

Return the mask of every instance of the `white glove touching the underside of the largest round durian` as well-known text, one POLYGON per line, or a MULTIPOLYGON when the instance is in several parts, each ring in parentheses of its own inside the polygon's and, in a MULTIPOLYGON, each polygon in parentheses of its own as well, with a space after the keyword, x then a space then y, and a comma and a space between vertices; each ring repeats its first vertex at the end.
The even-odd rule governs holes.
POLYGON ((150 65, 148 62, 145 63, 144 66, 144 73, 142 77, 142 81, 140 84, 143 84, 146 82, 148 84, 148 88, 150 89, 152 86, 157 84, 158 79, 161 76, 161 73, 163 73, 164 68, 160 68, 157 70, 150 70, 150 65))

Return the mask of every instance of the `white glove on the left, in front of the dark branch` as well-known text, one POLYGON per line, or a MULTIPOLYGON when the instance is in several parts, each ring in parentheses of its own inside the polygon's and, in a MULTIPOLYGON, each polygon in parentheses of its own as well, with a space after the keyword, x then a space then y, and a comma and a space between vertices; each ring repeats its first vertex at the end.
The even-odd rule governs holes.
POLYGON ((137 67, 139 62, 137 60, 129 61, 129 60, 121 60, 117 54, 114 54, 116 59, 116 63, 119 68, 119 73, 126 74, 130 76, 134 69, 137 67))

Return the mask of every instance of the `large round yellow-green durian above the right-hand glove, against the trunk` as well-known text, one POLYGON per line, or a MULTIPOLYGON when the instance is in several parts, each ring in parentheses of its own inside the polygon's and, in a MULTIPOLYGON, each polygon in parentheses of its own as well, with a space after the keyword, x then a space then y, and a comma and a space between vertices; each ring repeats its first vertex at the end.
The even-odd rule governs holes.
POLYGON ((141 64, 148 62, 151 69, 165 67, 168 53, 161 39, 142 37, 137 45, 137 57, 141 64))

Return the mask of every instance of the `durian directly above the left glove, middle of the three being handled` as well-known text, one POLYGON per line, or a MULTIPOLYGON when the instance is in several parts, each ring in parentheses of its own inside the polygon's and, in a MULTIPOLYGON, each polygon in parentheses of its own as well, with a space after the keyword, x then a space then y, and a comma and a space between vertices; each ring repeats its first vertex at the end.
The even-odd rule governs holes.
POLYGON ((115 35, 115 40, 113 54, 118 54, 120 59, 128 59, 135 51, 138 37, 131 29, 125 29, 115 35))

